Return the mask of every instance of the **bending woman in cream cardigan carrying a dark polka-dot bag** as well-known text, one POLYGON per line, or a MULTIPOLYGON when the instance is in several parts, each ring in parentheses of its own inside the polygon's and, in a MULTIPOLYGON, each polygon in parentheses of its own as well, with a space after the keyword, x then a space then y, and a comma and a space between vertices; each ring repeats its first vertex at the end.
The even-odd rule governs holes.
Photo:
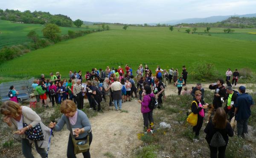
POLYGON ((1 106, 0 112, 2 115, 5 115, 3 121, 6 122, 9 129, 16 130, 14 131, 14 137, 21 139, 23 155, 26 158, 34 158, 32 155, 31 144, 35 142, 35 149, 42 158, 45 158, 46 151, 44 148, 47 148, 48 145, 50 129, 42 123, 41 118, 29 107, 20 106, 14 101, 4 102, 1 106), (28 126, 23 127, 23 123, 28 124, 28 126), (26 137, 25 132, 26 130, 35 127, 38 123, 41 125, 44 140, 31 141, 26 137))

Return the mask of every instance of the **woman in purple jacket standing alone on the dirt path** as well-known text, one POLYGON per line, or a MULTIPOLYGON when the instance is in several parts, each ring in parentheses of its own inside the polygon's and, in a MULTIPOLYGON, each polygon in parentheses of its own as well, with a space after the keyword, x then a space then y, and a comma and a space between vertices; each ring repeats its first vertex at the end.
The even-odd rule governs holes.
POLYGON ((151 97, 154 97, 154 94, 152 93, 151 87, 149 85, 144 86, 145 96, 143 97, 143 100, 138 100, 139 103, 141 103, 141 113, 143 115, 143 121, 144 121, 144 129, 148 129, 148 125, 151 123, 154 123, 153 120, 153 110, 149 109, 148 105, 151 101, 151 97), (148 124, 149 122, 149 124, 148 124))

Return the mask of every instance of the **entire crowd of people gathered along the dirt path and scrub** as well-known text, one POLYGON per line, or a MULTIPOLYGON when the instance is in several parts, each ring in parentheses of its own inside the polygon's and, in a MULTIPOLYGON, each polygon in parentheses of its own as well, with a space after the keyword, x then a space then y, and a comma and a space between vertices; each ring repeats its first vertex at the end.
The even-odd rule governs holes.
MULTIPOLYGON (((186 86, 186 80, 188 72, 186 66, 182 67, 182 73, 179 77, 177 69, 161 69, 157 66, 155 73, 148 68, 147 65, 143 67, 140 65, 136 72, 133 72, 130 66, 127 64, 122 69, 121 66, 118 69, 109 66, 103 69, 93 68, 90 72, 87 71, 85 75, 82 72, 76 72, 70 70, 69 78, 61 78, 59 72, 52 72, 49 74, 49 78, 45 78, 44 74, 41 74, 41 78, 34 80, 32 84, 33 93, 32 97, 35 97, 37 102, 41 106, 49 107, 47 103, 47 95, 49 97, 52 106, 61 104, 61 112, 63 113, 61 120, 56 124, 51 122, 50 128, 54 128, 55 131, 60 131, 64 124, 68 125, 68 129, 73 130, 73 135, 76 135, 76 140, 84 140, 90 138, 92 142, 92 132, 90 122, 81 111, 84 105, 84 98, 87 98, 90 104, 90 109, 98 110, 102 112, 102 105, 105 110, 116 111, 122 110, 122 104, 129 102, 136 98, 138 103, 141 104, 141 112, 143 114, 144 129, 152 129, 151 124, 154 124, 153 120, 153 109, 149 108, 149 104, 152 98, 155 98, 158 103, 158 108, 163 106, 162 99, 165 98, 165 88, 168 85, 177 86, 178 95, 192 95, 193 101, 191 103, 191 111, 196 115, 196 124, 192 130, 195 132, 195 138, 200 138, 200 130, 203 125, 205 117, 205 109, 211 107, 210 104, 204 102, 204 88, 201 83, 197 83, 192 89, 184 88, 186 86), (79 120, 79 121, 78 121, 79 120), (72 129, 71 129, 72 128, 72 129)), ((212 117, 209 117, 209 122, 204 129, 207 143, 210 148, 211 158, 224 157, 225 149, 228 144, 228 136, 233 136, 234 132, 230 125, 230 121, 235 117, 237 121, 237 134, 238 136, 244 137, 244 134, 248 132, 247 122, 250 117, 250 106, 254 104, 252 97, 245 93, 245 87, 240 86, 239 92, 233 90, 232 85, 235 81, 235 86, 238 82, 239 72, 233 72, 232 84, 230 83, 230 77, 232 72, 230 69, 226 72, 226 84, 224 86, 224 80, 218 79, 216 83, 209 85, 209 89, 214 90, 214 96, 212 101, 212 117), (226 105, 222 108, 222 104, 227 100, 226 105), (215 146, 212 143, 212 139, 215 139, 216 132, 219 132, 225 141, 222 146, 215 146)), ((18 91, 15 90, 14 86, 10 87, 11 101, 8 101, 1 106, 1 114, 5 115, 4 122, 11 129, 18 129, 18 135, 22 138, 22 147, 24 148, 23 154, 25 157, 31 157, 31 147, 28 144, 31 141, 26 139, 24 134, 26 130, 35 127, 36 124, 40 124, 45 133, 49 133, 50 129, 41 122, 41 119, 35 112, 26 106, 20 106, 17 102, 18 91), (33 116, 32 119, 29 119, 33 116), (29 121, 28 121, 28 119, 29 121), (35 120, 34 120, 35 119, 35 120), (34 121, 33 121, 34 120, 34 121), (22 122, 26 122, 28 126, 22 126, 22 122), (25 148, 29 150, 25 151, 25 148)), ((209 110, 210 111, 210 110, 209 110)), ((47 135, 46 135, 47 136, 47 135)), ((72 143, 73 138, 70 133, 68 141, 67 157, 75 157, 75 152, 72 150, 74 145, 72 143), (71 149, 71 150, 69 150, 71 149)), ((41 149, 41 145, 36 142, 36 149, 43 158, 45 155, 44 149, 41 149)), ((83 152, 84 157, 90 157, 90 152, 83 152)))

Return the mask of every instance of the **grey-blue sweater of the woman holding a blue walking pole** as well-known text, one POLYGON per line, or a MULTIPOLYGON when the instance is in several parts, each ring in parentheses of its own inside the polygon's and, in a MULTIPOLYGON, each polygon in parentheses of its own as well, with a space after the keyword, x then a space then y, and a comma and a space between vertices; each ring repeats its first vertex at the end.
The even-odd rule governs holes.
MULTIPOLYGON (((77 110, 78 114, 77 114, 77 119, 76 119, 76 124, 71 125, 71 128, 84 128, 84 132, 80 133, 79 136, 77 138, 84 138, 87 136, 88 132, 91 129, 91 125, 90 125, 90 121, 87 117, 87 115, 81 111, 81 110, 77 110)), ((68 127, 68 121, 67 118, 64 114, 61 116, 60 121, 58 122, 58 124, 55 125, 54 129, 55 131, 61 131, 61 129, 63 129, 64 125, 67 124, 67 129, 69 129, 68 127)), ((70 129, 69 129, 70 130, 70 129)), ((72 129, 71 129, 72 130, 72 129)))

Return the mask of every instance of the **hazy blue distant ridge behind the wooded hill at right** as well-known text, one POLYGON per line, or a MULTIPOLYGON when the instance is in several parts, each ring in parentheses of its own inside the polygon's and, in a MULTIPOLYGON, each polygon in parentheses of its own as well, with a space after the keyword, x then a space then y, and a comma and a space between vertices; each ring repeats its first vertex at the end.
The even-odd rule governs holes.
POLYGON ((255 14, 244 14, 244 15, 226 15, 226 16, 212 16, 212 17, 205 17, 205 18, 189 18, 189 19, 183 19, 183 20, 170 20, 170 21, 163 21, 160 22, 170 25, 176 25, 179 23, 216 23, 223 20, 228 19, 229 17, 256 17, 255 14))

